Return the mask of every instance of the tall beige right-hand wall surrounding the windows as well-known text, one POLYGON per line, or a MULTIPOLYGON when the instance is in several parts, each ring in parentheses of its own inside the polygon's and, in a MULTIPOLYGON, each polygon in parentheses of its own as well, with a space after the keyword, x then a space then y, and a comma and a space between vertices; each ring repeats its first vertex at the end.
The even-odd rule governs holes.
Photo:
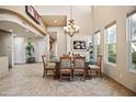
POLYGON ((95 32, 101 31, 101 54, 104 53, 104 26, 116 20, 117 26, 117 64, 111 66, 104 63, 103 72, 121 84, 136 92, 136 73, 128 71, 127 67, 127 37, 126 35, 126 14, 136 7, 97 7, 93 10, 92 20, 95 32))

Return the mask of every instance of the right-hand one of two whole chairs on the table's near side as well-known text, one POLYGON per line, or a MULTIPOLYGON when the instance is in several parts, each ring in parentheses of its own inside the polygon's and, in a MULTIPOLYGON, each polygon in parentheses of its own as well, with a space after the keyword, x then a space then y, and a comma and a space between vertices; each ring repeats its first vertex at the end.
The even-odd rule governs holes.
POLYGON ((73 59, 73 79, 76 75, 82 75, 83 81, 86 80, 86 57, 77 56, 73 59))

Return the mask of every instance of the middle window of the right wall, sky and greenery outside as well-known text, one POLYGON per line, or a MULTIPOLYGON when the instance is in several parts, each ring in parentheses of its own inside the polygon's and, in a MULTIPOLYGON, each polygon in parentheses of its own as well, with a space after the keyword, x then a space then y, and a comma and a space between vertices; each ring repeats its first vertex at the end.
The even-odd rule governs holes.
POLYGON ((116 64, 116 24, 105 29, 106 63, 116 64))

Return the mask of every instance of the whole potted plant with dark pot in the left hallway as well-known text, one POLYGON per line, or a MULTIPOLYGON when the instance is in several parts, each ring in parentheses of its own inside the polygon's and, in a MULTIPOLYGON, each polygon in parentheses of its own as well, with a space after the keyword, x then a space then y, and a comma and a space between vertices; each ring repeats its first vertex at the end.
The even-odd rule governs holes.
POLYGON ((27 58, 26 58, 27 64, 35 63, 34 46, 30 39, 27 41, 27 45, 26 45, 26 55, 27 55, 27 58))

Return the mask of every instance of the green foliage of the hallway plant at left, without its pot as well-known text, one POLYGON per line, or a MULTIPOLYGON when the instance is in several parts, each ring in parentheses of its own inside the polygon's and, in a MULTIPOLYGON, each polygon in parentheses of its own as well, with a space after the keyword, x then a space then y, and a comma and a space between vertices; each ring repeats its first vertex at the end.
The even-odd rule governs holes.
POLYGON ((27 41, 26 54, 27 54, 29 58, 33 57, 34 46, 32 45, 31 41, 27 41))

